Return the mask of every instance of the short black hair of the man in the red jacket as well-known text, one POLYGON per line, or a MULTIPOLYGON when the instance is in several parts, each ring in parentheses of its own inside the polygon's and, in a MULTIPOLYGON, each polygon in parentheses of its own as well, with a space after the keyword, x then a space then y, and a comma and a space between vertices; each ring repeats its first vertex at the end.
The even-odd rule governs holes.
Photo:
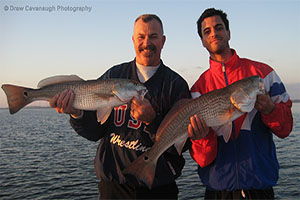
POLYGON ((226 30, 229 30, 229 21, 227 19, 227 14, 225 12, 223 12, 222 10, 208 8, 202 13, 202 15, 200 16, 200 18, 197 21, 198 34, 199 34, 200 38, 202 38, 201 24, 202 24, 203 20, 207 17, 212 17, 215 15, 218 15, 221 17, 221 19, 223 20, 223 22, 225 24, 226 30))

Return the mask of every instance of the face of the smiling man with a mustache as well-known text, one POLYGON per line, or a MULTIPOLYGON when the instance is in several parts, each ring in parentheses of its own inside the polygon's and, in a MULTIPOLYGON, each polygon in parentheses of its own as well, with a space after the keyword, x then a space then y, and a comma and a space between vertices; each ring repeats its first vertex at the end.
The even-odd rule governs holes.
POLYGON ((137 63, 144 66, 157 66, 166 37, 158 21, 143 22, 138 20, 134 25, 132 41, 137 63))

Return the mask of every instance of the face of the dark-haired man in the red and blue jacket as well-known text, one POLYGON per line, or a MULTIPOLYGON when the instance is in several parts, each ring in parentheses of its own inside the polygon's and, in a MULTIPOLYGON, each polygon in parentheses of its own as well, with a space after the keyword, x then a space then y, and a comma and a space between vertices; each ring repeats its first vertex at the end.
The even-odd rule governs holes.
POLYGON ((222 54, 229 48, 230 31, 226 30, 220 16, 207 17, 201 24, 202 45, 210 54, 222 54))

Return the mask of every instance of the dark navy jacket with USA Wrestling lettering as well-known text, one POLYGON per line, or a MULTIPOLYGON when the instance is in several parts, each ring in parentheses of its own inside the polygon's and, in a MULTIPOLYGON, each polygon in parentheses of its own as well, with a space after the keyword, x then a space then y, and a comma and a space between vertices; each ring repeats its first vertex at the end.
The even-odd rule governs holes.
MULTIPOLYGON (((135 60, 116 65, 100 77, 112 78, 139 81, 135 60)), ((148 89, 145 98, 157 113, 148 126, 130 116, 129 105, 115 108, 103 125, 97 122, 94 111, 84 111, 81 119, 70 119, 71 126, 79 135, 92 141, 101 139, 95 157, 95 171, 100 180, 127 183, 128 179, 123 176, 122 170, 151 148, 156 130, 172 105, 181 98, 190 98, 186 81, 162 61, 156 73, 144 85, 148 89)), ((158 160, 153 188, 174 182, 181 174, 184 163, 183 156, 179 156, 174 147, 169 148, 158 160)), ((142 183, 135 180, 130 184, 140 186, 142 183)))

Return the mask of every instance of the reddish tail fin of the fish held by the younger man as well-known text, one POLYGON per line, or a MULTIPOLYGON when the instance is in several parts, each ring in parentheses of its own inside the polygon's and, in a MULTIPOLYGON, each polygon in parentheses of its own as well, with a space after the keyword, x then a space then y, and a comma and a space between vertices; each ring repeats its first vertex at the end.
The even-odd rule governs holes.
POLYGON ((141 180, 145 183, 149 189, 152 188, 155 168, 157 160, 149 159, 147 152, 140 155, 135 159, 130 165, 128 165, 122 173, 124 175, 130 174, 135 176, 138 180, 141 180))

